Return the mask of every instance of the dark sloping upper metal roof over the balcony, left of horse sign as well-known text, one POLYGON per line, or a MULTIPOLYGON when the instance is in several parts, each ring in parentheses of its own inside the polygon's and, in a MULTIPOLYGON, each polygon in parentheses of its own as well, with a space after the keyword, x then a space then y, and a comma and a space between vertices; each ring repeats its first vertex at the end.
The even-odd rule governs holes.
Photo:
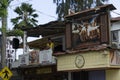
POLYGON ((34 28, 23 29, 27 31, 29 37, 39 37, 40 35, 50 36, 54 34, 64 33, 65 31, 65 22, 64 21, 51 21, 47 24, 39 25, 34 28))

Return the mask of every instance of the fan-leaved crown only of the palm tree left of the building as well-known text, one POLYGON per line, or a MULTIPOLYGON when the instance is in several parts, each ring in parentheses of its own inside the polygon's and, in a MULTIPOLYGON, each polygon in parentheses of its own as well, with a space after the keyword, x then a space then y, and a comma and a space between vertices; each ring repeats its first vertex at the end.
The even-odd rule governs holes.
POLYGON ((16 7, 14 10, 18 14, 16 18, 11 19, 14 25, 14 29, 22 29, 29 27, 36 27, 38 15, 34 13, 36 10, 32 8, 32 5, 28 3, 22 3, 20 7, 16 7))

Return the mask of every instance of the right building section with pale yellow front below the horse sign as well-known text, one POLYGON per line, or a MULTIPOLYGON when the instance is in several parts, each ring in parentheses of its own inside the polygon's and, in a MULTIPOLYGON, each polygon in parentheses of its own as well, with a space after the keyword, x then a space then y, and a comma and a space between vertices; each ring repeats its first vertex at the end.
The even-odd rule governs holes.
POLYGON ((107 4, 65 17, 66 52, 56 57, 57 70, 68 72, 66 79, 119 80, 120 51, 111 45, 115 28, 109 12, 114 9, 107 4))

